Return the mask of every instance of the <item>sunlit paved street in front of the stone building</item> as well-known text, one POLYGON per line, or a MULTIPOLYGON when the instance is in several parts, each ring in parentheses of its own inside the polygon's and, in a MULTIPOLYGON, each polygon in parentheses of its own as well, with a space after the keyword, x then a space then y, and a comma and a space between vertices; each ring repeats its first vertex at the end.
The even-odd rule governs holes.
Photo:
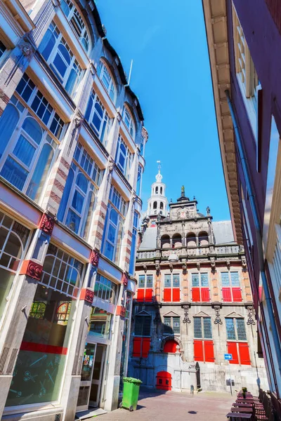
POLYGON ((117 409, 100 415, 99 421, 226 421, 233 401, 235 396, 213 392, 190 395, 142 391, 136 411, 117 409))

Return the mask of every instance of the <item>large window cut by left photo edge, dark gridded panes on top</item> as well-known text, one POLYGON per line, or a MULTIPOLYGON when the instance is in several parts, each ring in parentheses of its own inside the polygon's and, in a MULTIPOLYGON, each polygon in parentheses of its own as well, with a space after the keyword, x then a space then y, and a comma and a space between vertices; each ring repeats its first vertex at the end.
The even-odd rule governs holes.
POLYGON ((0 173, 38 202, 64 123, 39 91, 32 95, 35 86, 26 75, 17 92, 31 102, 32 110, 43 123, 39 123, 34 113, 13 95, 0 119, 0 130, 4 133, 0 145, 0 173))

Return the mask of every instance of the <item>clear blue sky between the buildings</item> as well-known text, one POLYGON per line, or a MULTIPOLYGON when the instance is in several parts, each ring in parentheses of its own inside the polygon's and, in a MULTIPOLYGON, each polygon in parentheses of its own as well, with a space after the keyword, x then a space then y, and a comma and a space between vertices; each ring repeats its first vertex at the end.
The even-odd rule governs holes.
POLYGON ((195 195, 200 212, 230 219, 218 146, 201 0, 96 0, 107 38, 138 95, 149 140, 143 210, 162 161, 168 200, 195 195))

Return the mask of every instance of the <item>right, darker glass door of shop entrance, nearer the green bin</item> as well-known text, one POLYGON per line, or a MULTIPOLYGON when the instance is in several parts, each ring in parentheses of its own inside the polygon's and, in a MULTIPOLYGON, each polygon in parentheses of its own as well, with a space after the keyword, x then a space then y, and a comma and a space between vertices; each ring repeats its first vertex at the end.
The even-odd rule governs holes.
POLYGON ((100 403, 100 390, 101 390, 101 383, 103 380, 103 366, 105 363, 105 352, 106 352, 106 346, 98 344, 97 349, 96 349, 95 363, 93 366, 93 377, 92 377, 89 406, 96 407, 96 406, 99 406, 99 403, 100 403))

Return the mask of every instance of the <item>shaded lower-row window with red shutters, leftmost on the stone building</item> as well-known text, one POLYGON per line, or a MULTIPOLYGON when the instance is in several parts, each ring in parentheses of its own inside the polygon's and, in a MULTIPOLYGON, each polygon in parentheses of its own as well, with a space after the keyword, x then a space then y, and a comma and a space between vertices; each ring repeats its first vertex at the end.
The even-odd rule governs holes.
POLYGON ((150 316, 136 316, 135 336, 133 338, 133 356, 148 358, 150 350, 150 316))

